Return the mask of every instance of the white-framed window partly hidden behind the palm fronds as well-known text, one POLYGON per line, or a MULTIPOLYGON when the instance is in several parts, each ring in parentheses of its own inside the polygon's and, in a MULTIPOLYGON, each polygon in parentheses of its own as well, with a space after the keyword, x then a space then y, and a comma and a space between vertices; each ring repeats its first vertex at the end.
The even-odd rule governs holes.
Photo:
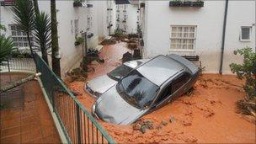
MULTIPOLYGON (((11 29, 14 46, 29 47, 29 40, 27 38, 26 33, 24 31, 19 30, 16 24, 10 24, 9 27, 11 29)), ((31 33, 29 33, 29 37, 31 40, 31 45, 34 46, 34 38, 31 35, 31 33)))

